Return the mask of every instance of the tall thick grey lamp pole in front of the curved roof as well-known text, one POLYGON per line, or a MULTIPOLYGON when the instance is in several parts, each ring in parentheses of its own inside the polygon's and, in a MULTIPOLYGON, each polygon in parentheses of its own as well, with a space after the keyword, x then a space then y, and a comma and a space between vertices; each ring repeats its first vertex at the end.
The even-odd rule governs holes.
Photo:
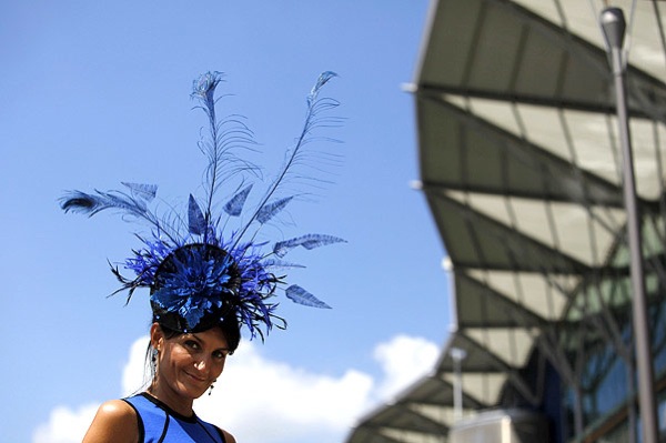
POLYGON ((623 188, 627 212, 627 239, 630 252, 630 272, 633 289, 634 349, 638 375, 638 400, 643 442, 657 443, 657 412, 654 392, 654 368, 652 361, 652 341, 647 319, 647 298, 643 274, 643 253, 640 249, 640 220, 636 198, 636 180, 627 117, 625 66, 622 60, 622 47, 626 30, 624 13, 619 8, 606 8, 601 16, 602 29, 610 52, 610 67, 615 80, 617 123, 623 153, 623 188))

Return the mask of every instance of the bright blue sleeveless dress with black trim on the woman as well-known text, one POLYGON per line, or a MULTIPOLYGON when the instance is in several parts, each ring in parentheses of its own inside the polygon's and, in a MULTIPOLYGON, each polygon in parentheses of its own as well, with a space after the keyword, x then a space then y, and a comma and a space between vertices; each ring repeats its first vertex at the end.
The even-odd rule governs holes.
POLYGON ((147 393, 122 400, 137 411, 139 443, 225 443, 215 425, 181 415, 147 393))

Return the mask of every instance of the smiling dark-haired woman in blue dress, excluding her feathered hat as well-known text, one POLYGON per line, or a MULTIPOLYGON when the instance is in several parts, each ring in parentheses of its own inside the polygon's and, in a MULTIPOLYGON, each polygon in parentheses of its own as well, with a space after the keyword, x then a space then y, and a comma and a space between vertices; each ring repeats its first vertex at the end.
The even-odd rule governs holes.
POLYGON ((83 443, 235 443, 229 432, 202 421, 192 409, 193 401, 218 380, 235 348, 221 326, 169 338, 173 333, 165 333, 157 322, 152 324, 150 342, 157 352, 157 370, 150 387, 139 395, 103 403, 83 443))

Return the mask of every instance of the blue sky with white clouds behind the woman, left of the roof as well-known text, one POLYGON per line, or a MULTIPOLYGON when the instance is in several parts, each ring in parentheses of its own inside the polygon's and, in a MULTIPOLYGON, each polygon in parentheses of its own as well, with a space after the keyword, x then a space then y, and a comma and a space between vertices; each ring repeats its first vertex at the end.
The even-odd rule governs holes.
POLYGON ((107 260, 138 246, 138 226, 112 214, 63 214, 57 200, 129 181, 185 202, 204 167, 196 141, 205 120, 189 94, 209 70, 226 73, 220 91, 232 95, 221 109, 248 118, 269 174, 297 135, 319 73, 339 73, 324 93, 341 102, 335 114, 345 122, 327 134, 343 143, 327 149, 344 164, 315 201, 293 205, 295 225, 280 234, 347 243, 294 256, 307 265, 299 284, 333 310, 282 303, 289 329, 242 344, 222 376, 228 384, 221 380, 201 414, 243 443, 339 442, 432 366, 451 323, 445 251, 424 195, 410 188, 418 178, 415 113, 401 90, 414 78, 427 8, 426 0, 0 6, 3 441, 75 441, 100 402, 139 387, 148 294, 128 306, 122 295, 107 298, 118 288, 107 260), (262 426, 251 421, 258 414, 262 426))

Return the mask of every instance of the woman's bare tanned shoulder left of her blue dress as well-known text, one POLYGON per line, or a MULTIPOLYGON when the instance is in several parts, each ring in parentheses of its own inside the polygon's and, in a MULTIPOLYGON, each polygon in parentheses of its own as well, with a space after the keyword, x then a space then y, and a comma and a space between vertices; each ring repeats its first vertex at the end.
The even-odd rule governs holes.
POLYGON ((137 412, 122 400, 110 400, 102 403, 83 437, 83 443, 138 441, 137 412))

